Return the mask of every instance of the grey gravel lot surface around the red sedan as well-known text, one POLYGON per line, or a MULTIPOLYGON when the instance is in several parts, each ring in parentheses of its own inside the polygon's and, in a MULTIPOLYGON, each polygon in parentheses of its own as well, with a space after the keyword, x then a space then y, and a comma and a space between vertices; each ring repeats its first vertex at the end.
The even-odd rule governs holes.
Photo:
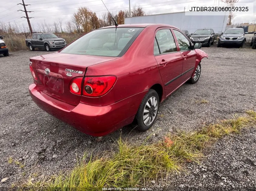
MULTIPOLYGON (((203 123, 217 122, 245 110, 256 110, 255 49, 203 47, 209 59, 202 61, 202 73, 196 84, 185 84, 165 100, 155 125, 141 133, 126 126, 107 135, 100 143, 55 119, 32 102, 28 86, 32 84, 29 57, 46 51, 19 51, 0 56, 0 189, 12 183, 42 179, 71 170, 84 152, 88 155, 115 151, 120 137, 143 142, 161 140, 168 132, 193 131, 203 123), (209 103, 200 103, 202 99, 209 103), (10 157, 12 163, 8 163, 10 157), (19 161, 21 164, 15 163, 19 161), (22 167, 24 165, 24 167, 22 167)), ((204 152, 199 164, 190 163, 186 172, 168 180, 149 183, 154 190, 256 190, 256 129, 244 130, 219 140, 204 152), (160 186, 159 186, 160 185, 160 186)))

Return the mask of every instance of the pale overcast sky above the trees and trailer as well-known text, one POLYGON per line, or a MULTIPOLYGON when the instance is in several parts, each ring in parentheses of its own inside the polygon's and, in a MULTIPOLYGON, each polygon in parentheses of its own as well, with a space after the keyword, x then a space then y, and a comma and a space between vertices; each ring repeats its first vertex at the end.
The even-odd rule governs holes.
MULTIPOLYGON (((3 0, 2 0, 3 1, 3 0)), ((78 7, 86 6, 91 11, 96 12, 99 18, 106 12, 101 0, 24 0, 25 4, 31 4, 27 6, 27 11, 34 11, 29 14, 32 25, 37 25, 40 22, 47 21, 53 23, 58 19, 62 19, 63 23, 70 21, 72 14, 75 13, 78 7)), ((129 7, 128 0, 103 0, 110 12, 118 12, 129 7)), ((188 5, 193 6, 205 6, 215 5, 218 6, 219 0, 131 0, 131 8, 135 5, 141 5, 146 13, 162 14, 170 12, 184 11, 184 7, 188 5), (206 3, 207 2, 207 3, 206 3)), ((241 15, 237 14, 233 23, 238 24, 241 22, 256 22, 256 0, 239 0, 239 3, 254 3, 254 15, 241 15)), ((23 10, 22 0, 9 0, 1 3, 0 6, 0 21, 2 22, 17 22, 24 24, 27 27, 27 21, 25 13, 17 11, 23 10)))

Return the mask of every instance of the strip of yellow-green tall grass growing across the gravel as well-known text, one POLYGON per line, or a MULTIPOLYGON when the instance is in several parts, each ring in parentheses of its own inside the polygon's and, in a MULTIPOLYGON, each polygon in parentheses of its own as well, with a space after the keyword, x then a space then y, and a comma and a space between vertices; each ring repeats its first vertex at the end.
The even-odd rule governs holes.
POLYGON ((201 131, 169 134, 164 140, 136 146, 119 139, 118 152, 113 156, 84 160, 71 171, 60 173, 50 180, 28 181, 21 188, 35 190, 102 190, 102 188, 126 188, 145 186, 152 179, 165 173, 182 170, 184 162, 200 162, 204 158, 202 149, 242 128, 256 125, 256 112, 247 111, 244 116, 205 126, 201 131))

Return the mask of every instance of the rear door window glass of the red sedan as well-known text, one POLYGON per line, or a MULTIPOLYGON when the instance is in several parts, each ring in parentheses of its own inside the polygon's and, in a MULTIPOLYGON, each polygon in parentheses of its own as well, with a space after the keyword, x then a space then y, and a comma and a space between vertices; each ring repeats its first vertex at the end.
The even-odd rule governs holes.
POLYGON ((160 54, 177 51, 175 40, 170 29, 158 30, 155 37, 159 45, 160 54))

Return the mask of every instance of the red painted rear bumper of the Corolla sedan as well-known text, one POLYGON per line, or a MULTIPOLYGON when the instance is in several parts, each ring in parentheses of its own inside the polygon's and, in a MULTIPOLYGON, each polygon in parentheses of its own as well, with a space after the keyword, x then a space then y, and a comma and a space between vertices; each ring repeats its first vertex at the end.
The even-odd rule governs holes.
POLYGON ((41 92, 35 84, 29 86, 32 100, 47 113, 92 136, 107 135, 132 123, 141 100, 147 93, 141 92, 108 106, 77 106, 56 100, 41 92))

